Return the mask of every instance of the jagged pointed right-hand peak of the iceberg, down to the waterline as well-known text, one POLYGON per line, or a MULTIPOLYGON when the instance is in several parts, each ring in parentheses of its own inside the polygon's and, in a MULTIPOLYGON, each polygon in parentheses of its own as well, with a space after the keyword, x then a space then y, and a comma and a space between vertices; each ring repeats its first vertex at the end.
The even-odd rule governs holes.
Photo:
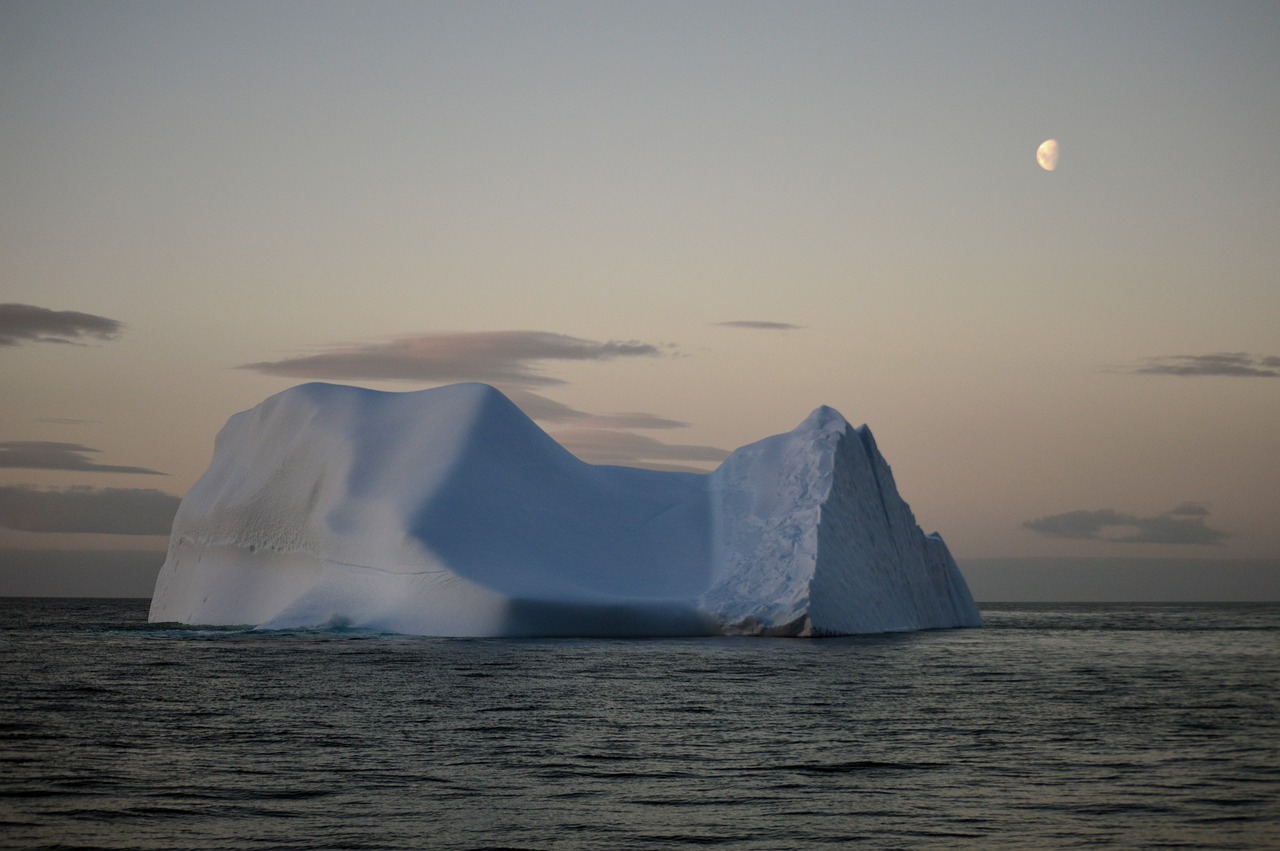
POLYGON ((742 447, 709 484, 716 559, 699 607, 722 631, 849 635, 982 622, 946 544, 924 535, 899 497, 870 430, 835 410, 742 447))

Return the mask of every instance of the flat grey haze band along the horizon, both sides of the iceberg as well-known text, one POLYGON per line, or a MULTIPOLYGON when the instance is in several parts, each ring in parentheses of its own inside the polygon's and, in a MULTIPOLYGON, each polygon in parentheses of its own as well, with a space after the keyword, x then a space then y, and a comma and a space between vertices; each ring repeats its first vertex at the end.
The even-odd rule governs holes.
MULTIPOLYGON (((157 550, 0 549, 0 596, 150 598, 157 550)), ((1280 600, 1280 559, 959 558, 986 603, 1280 600)))

